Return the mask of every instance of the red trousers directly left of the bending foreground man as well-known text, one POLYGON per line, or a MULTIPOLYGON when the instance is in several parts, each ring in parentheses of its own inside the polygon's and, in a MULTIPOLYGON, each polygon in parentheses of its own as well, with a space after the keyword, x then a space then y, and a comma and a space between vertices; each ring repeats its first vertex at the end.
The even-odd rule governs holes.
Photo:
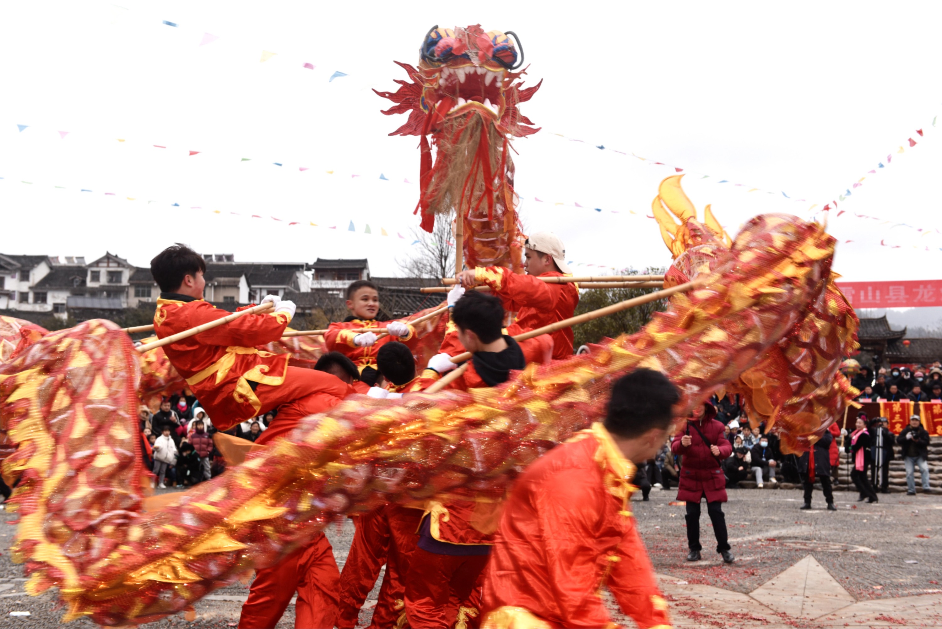
POLYGON ((475 589, 488 555, 436 555, 416 548, 406 578, 406 615, 409 626, 447 629, 456 621, 478 626, 480 606, 472 612, 459 608, 480 602, 475 589), (462 614, 463 619, 457 619, 462 614))

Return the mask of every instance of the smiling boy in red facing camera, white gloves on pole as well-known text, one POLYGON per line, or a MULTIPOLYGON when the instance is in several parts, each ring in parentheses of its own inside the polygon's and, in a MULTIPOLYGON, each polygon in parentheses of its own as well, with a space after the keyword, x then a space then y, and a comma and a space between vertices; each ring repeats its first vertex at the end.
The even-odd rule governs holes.
POLYGON ((347 287, 347 309, 350 316, 343 322, 331 323, 324 335, 328 351, 341 352, 356 364, 360 379, 367 385, 376 384, 376 352, 383 343, 393 340, 408 342, 415 337, 415 329, 401 321, 378 322, 380 293, 376 285, 365 279, 357 280, 347 287), (373 332, 353 332, 370 327, 384 327, 388 336, 378 339, 373 332))

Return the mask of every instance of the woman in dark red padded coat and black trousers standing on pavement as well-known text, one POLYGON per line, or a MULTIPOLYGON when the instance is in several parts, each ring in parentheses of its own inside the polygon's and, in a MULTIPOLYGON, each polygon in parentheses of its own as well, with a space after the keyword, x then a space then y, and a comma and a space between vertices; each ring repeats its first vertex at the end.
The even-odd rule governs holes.
POLYGON ((726 477, 723 475, 723 460, 733 453, 729 439, 723 437, 723 423, 717 422, 716 408, 710 404, 698 406, 690 413, 680 439, 674 439, 671 450, 681 455, 680 485, 677 500, 687 501, 687 543, 690 546, 688 561, 699 561, 700 551, 700 500, 707 498, 707 514, 713 522, 716 535, 716 552, 723 561, 735 559, 729 552, 726 535, 726 517, 723 503, 726 502, 726 477))

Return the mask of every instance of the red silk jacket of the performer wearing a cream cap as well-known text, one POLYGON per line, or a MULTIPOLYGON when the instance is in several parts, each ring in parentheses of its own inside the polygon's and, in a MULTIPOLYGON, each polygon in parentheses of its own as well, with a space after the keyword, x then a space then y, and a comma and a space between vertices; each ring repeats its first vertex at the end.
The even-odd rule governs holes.
MULTIPOLYGON (((556 271, 541 275, 563 276, 556 271)), ((504 267, 478 267, 474 278, 478 284, 491 287, 505 310, 517 313, 516 321, 507 327, 511 336, 569 319, 579 303, 579 291, 572 283, 547 284, 533 275, 513 273, 504 267)), ((564 327, 550 336, 553 337, 553 358, 573 356, 573 328, 564 327)))

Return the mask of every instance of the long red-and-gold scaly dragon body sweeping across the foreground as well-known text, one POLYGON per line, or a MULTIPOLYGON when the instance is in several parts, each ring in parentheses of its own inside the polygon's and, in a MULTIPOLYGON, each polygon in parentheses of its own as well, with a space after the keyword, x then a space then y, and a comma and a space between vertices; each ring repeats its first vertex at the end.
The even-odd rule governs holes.
MULTIPOLYGON (((4 468, 22 472, 10 500, 20 513, 12 554, 25 563, 30 593, 58 588, 66 621, 138 624, 273 565, 341 514, 459 488, 503 495, 528 463, 604 415, 612 378, 654 367, 690 408, 741 386, 770 352, 809 352, 801 344, 809 312, 831 317, 816 329, 841 323, 834 246, 819 224, 756 217, 699 273, 699 288, 674 295, 635 335, 608 339, 589 356, 530 365, 493 389, 356 396, 153 508, 142 489, 141 369, 131 340, 100 320, 46 334, 0 365, 0 414, 19 446, 4 468)), ((848 316, 845 331, 834 332, 835 351, 838 341, 852 342, 848 316)), ((830 339, 820 332, 819 343, 830 339)), ((814 352, 817 378, 826 365, 814 352)), ((805 396, 782 408, 799 416, 804 403, 817 404, 805 396)), ((788 443, 828 421, 792 422, 785 413, 775 427, 788 443)))

